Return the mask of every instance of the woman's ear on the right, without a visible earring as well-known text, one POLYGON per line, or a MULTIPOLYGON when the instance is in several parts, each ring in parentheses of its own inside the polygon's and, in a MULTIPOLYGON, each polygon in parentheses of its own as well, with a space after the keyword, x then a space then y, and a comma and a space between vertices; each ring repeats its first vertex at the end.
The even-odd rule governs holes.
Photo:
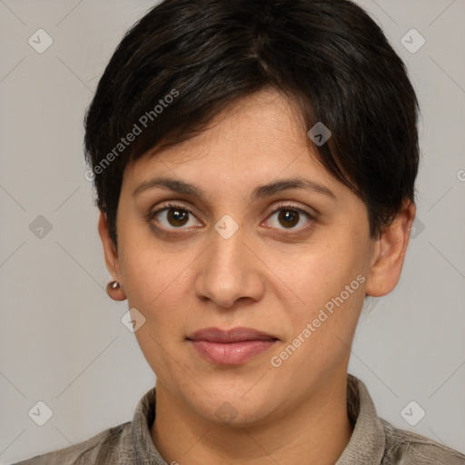
POLYGON ((367 295, 372 297, 386 295, 399 282, 415 213, 415 204, 405 201, 396 219, 376 240, 366 285, 367 295))

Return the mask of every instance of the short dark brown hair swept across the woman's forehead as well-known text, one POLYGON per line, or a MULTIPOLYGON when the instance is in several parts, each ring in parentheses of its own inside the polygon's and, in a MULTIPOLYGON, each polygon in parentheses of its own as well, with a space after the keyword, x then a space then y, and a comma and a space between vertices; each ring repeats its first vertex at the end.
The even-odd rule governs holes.
POLYGON ((309 147, 366 203, 372 237, 406 199, 414 203, 417 98, 401 58, 360 6, 164 0, 124 35, 85 116, 85 156, 115 245, 125 166, 157 144, 199 134, 265 87, 296 104, 305 132, 318 122, 331 130, 321 146, 307 137, 309 147))

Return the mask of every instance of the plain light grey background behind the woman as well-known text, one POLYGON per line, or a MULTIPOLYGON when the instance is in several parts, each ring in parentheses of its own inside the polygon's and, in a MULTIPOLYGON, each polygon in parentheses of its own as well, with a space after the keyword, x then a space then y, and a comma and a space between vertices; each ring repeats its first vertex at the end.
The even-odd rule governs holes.
MULTIPOLYGON (((382 418, 465 451, 465 2, 359 3, 408 65, 422 160, 420 222, 401 282, 367 301, 349 371, 382 418), (426 39, 415 54, 401 43, 411 28, 426 39), (426 411, 415 426, 401 416, 411 401, 426 411)), ((104 66, 151 5, 0 0, 1 463, 132 420, 155 381, 121 322, 127 302, 104 292, 110 276, 82 150, 84 111, 104 66), (54 41, 43 54, 28 44, 39 28, 54 41), (52 225, 42 237, 38 215, 52 225), (53 411, 44 426, 28 416, 37 401, 53 411)))

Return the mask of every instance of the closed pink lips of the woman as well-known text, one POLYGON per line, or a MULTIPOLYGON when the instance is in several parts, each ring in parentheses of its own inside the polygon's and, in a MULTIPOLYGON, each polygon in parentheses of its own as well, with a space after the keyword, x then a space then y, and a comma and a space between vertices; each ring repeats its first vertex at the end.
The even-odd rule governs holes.
POLYGON ((205 328, 186 339, 203 359, 219 365, 240 365, 269 351, 279 341, 271 334, 252 328, 229 331, 205 328))

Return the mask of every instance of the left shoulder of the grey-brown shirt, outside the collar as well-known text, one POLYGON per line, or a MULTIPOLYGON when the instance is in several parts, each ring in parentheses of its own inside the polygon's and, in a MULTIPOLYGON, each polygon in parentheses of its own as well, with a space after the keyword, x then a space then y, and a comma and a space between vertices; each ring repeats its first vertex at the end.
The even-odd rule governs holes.
POLYGON ((36 455, 12 465, 87 465, 91 463, 129 463, 131 459, 131 421, 103 430, 73 446, 36 455), (117 458, 117 460, 116 460, 117 458), (111 461, 109 461, 111 460, 111 461), (119 461, 123 460, 123 461, 119 461))

